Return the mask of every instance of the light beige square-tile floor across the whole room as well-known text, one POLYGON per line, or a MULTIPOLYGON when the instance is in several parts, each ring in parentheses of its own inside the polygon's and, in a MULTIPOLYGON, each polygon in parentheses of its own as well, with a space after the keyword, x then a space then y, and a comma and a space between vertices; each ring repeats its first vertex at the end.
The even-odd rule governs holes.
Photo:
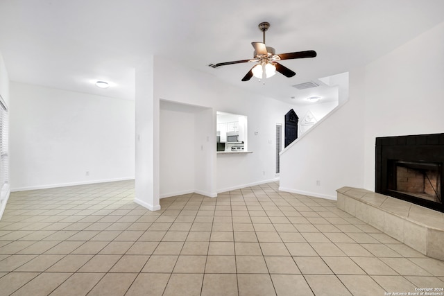
MULTIPOLYGON (((429 259, 277 183, 133 202, 134 182, 12 193, 0 295, 384 295, 443 288, 429 259)), ((443 293, 444 291, 436 291, 443 293)))

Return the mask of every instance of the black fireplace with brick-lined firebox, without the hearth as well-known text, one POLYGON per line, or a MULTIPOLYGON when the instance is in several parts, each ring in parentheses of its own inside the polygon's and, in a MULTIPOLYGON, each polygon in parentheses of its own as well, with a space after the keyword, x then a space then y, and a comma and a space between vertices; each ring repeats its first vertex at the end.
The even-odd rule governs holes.
POLYGON ((376 138, 375 191, 444 212, 444 134, 376 138))

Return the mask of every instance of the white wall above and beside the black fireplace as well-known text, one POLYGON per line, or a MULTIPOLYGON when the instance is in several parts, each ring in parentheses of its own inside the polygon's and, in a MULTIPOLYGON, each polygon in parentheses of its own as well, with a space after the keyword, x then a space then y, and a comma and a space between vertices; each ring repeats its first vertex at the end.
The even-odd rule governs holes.
POLYGON ((375 190, 375 138, 444 132, 444 23, 366 67, 365 184, 375 190))

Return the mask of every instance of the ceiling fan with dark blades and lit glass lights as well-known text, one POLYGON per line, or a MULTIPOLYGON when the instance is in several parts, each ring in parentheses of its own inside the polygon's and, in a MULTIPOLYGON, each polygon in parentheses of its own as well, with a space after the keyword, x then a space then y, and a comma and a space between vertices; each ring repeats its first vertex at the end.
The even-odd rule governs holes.
POLYGON ((314 58, 316 57, 316 51, 297 51, 295 53, 280 53, 275 54, 275 49, 270 46, 265 46, 265 32, 270 27, 270 24, 266 21, 259 24, 259 30, 262 31, 264 42, 251 42, 255 52, 254 58, 250 60, 236 60, 233 62, 219 62, 218 64, 209 64, 212 68, 226 66, 228 64, 240 64, 243 62, 257 62, 253 68, 246 73, 246 76, 242 78, 242 81, 248 81, 253 76, 262 79, 265 84, 265 78, 271 77, 275 74, 275 71, 283 74, 287 77, 293 77, 296 75, 294 71, 291 71, 287 67, 278 63, 280 60, 291 60, 301 58, 314 58))

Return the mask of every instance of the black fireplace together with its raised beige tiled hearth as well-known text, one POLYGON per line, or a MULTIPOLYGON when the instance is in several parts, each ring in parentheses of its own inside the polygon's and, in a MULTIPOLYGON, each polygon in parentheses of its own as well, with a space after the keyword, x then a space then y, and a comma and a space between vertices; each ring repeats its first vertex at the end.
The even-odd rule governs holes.
POLYGON ((375 192, 338 189, 339 209, 444 260, 444 134, 378 137, 375 192))

